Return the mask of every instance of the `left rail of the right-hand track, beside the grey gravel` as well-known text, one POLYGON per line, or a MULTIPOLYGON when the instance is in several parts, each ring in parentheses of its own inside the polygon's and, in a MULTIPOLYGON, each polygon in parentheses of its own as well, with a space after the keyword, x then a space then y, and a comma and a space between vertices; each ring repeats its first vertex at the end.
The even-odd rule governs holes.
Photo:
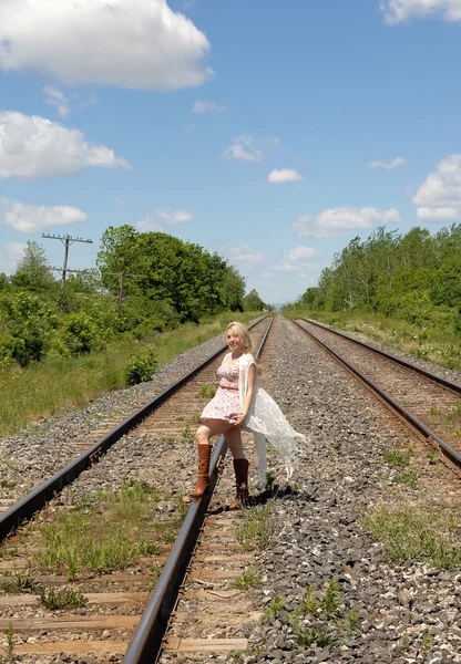
POLYGON ((345 366, 350 373, 352 373, 357 378, 359 378, 367 387, 369 387, 372 392, 375 392, 390 408, 397 412, 400 417, 402 417, 407 423, 411 424, 412 427, 427 439, 433 439, 440 447, 441 452, 445 455, 448 460, 453 464, 457 469, 461 468, 461 454, 454 449, 449 443, 445 443, 440 436, 438 436, 432 429, 430 429, 426 424, 423 424, 418 417, 412 415, 410 411, 408 411, 404 406, 402 406, 399 402, 392 398, 387 392, 381 390, 376 383, 373 383, 370 378, 368 378, 361 371, 356 369, 352 364, 350 364, 347 360, 341 357, 336 351, 330 349, 326 343, 317 339, 315 334, 306 330, 300 323, 297 321, 293 321, 303 332, 308 334, 319 346, 321 346, 329 355, 335 357, 337 362, 339 362, 342 366, 345 366))

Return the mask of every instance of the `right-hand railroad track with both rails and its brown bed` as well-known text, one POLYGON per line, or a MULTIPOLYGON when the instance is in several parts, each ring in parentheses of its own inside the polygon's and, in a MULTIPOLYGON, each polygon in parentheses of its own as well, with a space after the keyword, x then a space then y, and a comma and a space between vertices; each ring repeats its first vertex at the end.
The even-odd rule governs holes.
POLYGON ((315 321, 294 321, 461 474, 461 385, 315 321))

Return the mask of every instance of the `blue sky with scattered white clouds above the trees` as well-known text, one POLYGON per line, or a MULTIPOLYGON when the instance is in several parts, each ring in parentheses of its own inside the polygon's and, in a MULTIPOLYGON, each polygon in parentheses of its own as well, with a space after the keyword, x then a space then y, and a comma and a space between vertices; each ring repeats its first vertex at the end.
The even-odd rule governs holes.
POLYGON ((387 224, 461 220, 461 0, 1 0, 0 270, 163 230, 294 300, 387 224))

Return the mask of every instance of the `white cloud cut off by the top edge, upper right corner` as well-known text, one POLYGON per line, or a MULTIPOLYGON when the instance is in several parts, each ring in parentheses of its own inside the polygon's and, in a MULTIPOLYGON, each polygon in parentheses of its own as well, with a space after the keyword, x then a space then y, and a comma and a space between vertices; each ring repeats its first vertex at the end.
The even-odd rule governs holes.
POLYGON ((381 0, 380 9, 389 24, 409 19, 424 19, 440 14, 450 22, 461 21, 460 0, 381 0))

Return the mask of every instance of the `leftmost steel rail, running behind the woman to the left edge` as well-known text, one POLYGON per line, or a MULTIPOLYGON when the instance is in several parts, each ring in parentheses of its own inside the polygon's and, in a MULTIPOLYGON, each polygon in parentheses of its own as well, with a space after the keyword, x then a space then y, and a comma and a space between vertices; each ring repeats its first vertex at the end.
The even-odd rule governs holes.
MULTIPOLYGON (((259 324, 266 317, 262 317, 258 321, 248 326, 248 330, 259 324)), ((148 417, 151 413, 156 411, 165 401, 167 401, 175 392, 188 383, 197 373, 214 362, 225 350, 227 344, 223 345, 218 351, 213 353, 202 364, 197 364, 192 371, 185 374, 182 378, 170 385, 157 396, 154 396, 141 408, 137 408, 129 417, 123 419, 107 434, 93 443, 84 453, 76 457, 73 461, 58 470, 51 478, 32 489, 27 496, 18 500, 7 511, 0 515, 0 542, 10 536, 23 521, 30 519, 34 512, 42 509, 47 501, 51 500, 57 494, 74 481, 83 470, 86 470, 92 464, 114 445, 120 438, 127 434, 132 428, 136 427, 143 419, 148 417)))

